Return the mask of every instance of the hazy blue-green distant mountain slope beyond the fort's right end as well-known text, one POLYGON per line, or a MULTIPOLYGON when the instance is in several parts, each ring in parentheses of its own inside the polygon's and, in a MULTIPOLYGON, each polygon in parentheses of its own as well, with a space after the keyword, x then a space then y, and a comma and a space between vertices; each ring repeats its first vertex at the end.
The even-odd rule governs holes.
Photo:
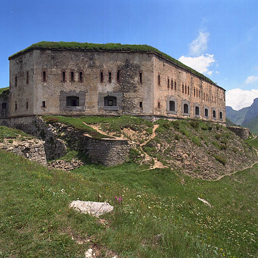
POLYGON ((251 106, 240 110, 226 106, 226 117, 235 124, 250 128, 252 133, 258 135, 258 98, 253 100, 251 106))

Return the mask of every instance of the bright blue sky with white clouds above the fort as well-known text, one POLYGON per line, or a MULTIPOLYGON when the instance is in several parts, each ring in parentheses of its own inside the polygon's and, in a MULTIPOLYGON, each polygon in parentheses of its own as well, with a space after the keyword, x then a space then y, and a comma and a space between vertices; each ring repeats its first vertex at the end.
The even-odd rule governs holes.
POLYGON ((35 42, 120 42, 180 59, 226 89, 235 109, 258 97, 256 0, 2 1, 0 32, 0 88, 8 56, 35 42))

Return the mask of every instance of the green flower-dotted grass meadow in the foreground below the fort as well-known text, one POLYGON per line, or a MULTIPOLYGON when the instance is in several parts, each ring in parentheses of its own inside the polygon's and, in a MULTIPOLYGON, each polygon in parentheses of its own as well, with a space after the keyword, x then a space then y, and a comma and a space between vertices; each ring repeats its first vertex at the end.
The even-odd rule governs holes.
POLYGON ((0 255, 84 257, 94 246, 102 257, 258 257, 257 169, 216 182, 133 163, 62 172, 0 150, 0 255), (68 208, 77 199, 115 209, 102 225, 68 208))

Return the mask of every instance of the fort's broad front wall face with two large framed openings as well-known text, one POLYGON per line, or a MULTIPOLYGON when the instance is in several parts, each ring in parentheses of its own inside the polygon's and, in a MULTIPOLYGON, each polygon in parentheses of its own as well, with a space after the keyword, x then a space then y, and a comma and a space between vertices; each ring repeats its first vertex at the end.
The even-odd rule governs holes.
POLYGON ((69 50, 32 52, 36 85, 34 114, 152 113, 152 53, 69 50), (46 82, 42 82, 43 71, 46 72, 46 82), (63 72, 65 78, 62 78, 63 72), (114 96, 115 93, 122 95, 121 105, 118 108, 105 108, 104 99, 101 98, 105 95, 114 96), (79 106, 66 107, 67 96, 78 96, 79 106), (42 107, 42 101, 45 101, 45 108, 42 107), (142 102, 142 107, 139 102, 142 102))

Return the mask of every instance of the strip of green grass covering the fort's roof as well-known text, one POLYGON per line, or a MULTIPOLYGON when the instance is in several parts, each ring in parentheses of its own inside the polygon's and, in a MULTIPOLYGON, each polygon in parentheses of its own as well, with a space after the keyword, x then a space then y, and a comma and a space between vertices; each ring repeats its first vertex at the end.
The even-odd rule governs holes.
POLYGON ((215 84, 211 79, 195 71, 194 69, 186 66, 184 63, 180 62, 179 60, 148 45, 129 45, 129 44, 120 44, 120 43, 97 44, 97 43, 88 43, 88 42, 80 43, 80 42, 64 42, 64 41, 59 41, 59 42, 41 41, 41 42, 32 44, 31 46, 9 56, 9 60, 16 57, 17 55, 20 55, 32 49, 71 49, 71 50, 89 50, 89 51, 102 50, 102 51, 155 52, 156 54, 161 55, 166 59, 178 64, 179 66, 185 68, 186 70, 192 72, 193 74, 215 84))

